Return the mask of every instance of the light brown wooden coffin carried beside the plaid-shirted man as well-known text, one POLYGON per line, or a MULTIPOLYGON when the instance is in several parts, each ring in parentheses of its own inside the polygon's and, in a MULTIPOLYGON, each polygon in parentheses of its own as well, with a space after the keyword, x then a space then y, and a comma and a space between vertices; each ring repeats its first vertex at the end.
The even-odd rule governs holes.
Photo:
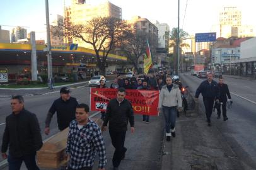
MULTIPOLYGON (((100 118, 90 119, 95 121, 100 127, 102 126, 100 118)), ((67 164, 68 160, 64 159, 64 156, 68 132, 69 128, 66 128, 44 141, 44 145, 37 152, 37 164, 39 167, 59 168, 67 164)))

